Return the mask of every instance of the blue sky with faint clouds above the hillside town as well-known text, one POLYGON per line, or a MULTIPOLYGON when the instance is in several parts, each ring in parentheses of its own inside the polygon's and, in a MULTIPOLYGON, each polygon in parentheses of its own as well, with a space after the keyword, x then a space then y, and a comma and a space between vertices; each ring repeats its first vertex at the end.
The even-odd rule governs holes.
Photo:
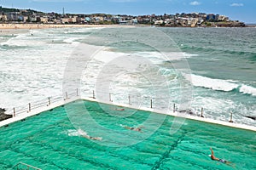
POLYGON ((0 0, 5 8, 31 8, 69 14, 223 14, 256 24, 256 0, 0 0))

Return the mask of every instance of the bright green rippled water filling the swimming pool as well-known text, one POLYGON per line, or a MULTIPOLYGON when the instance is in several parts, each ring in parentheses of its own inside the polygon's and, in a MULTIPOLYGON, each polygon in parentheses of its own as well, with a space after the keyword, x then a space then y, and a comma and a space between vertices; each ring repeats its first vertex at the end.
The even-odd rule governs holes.
POLYGON ((78 100, 0 128, 0 169, 256 169, 256 133, 78 100), (149 121, 148 121, 149 120, 149 121), (121 126, 123 125, 123 126, 121 126), (124 126, 142 127, 142 133, 124 126), (83 138, 78 128, 94 141, 83 138), (212 161, 215 156, 231 166, 212 161))

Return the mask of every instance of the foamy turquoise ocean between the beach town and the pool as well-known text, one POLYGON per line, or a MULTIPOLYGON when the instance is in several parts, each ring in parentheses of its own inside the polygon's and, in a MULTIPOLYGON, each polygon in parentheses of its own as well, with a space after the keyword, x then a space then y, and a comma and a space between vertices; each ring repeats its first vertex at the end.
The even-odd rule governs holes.
POLYGON ((256 126, 255 28, 60 28, 0 33, 0 107, 73 93, 256 126))

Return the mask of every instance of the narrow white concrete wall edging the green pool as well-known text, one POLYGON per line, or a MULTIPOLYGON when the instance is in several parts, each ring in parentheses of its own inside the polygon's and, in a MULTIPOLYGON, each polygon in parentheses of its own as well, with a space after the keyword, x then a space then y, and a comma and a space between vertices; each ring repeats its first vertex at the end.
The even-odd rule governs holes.
POLYGON ((110 101, 106 102, 106 101, 101 101, 99 99, 79 98, 79 97, 76 97, 76 98, 73 98, 73 99, 61 100, 61 101, 56 102, 52 105, 45 106, 45 107, 42 107, 42 108, 38 108, 38 109, 32 110, 28 113, 20 114, 18 116, 13 117, 13 118, 9 118, 9 119, 7 119, 3 122, 0 122, 0 127, 7 126, 7 125, 9 125, 10 123, 13 123, 13 122, 21 121, 21 120, 26 119, 27 117, 30 117, 30 116, 38 115, 38 114, 40 114, 44 111, 49 111, 49 110, 54 109, 56 107, 59 107, 61 105, 67 105, 68 103, 71 103, 71 102, 79 100, 79 99, 87 100, 87 101, 94 101, 94 102, 113 105, 113 106, 126 107, 126 108, 131 108, 131 109, 140 110, 140 111, 150 111, 150 112, 154 112, 154 113, 158 113, 158 114, 164 114, 164 115, 168 115, 168 116, 180 117, 180 118, 195 120, 195 121, 199 121, 199 122, 207 122, 207 123, 212 123, 212 124, 218 124, 218 125, 223 125, 223 126, 226 126, 226 127, 241 128, 241 129, 256 132, 256 127, 249 126, 249 125, 238 124, 236 122, 224 122, 224 121, 218 121, 218 120, 213 120, 213 119, 209 119, 209 118, 204 118, 204 117, 201 117, 201 116, 189 115, 189 114, 185 114, 185 113, 181 113, 181 112, 175 112, 175 113, 173 113, 173 111, 165 112, 165 111, 161 111, 161 110, 154 109, 154 108, 150 109, 150 108, 147 108, 147 107, 137 108, 137 107, 133 107, 132 105, 124 105, 124 104, 120 105, 118 103, 110 102, 110 101))

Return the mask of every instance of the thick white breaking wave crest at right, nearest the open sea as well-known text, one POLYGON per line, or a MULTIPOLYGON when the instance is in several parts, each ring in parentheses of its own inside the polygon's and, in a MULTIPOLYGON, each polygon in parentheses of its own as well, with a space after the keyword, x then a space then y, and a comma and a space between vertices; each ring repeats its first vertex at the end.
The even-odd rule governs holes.
POLYGON ((201 77, 198 75, 184 75, 184 77, 189 80, 195 87, 211 88, 213 90, 229 92, 233 89, 238 88, 238 84, 231 81, 222 79, 212 79, 209 77, 201 77))

